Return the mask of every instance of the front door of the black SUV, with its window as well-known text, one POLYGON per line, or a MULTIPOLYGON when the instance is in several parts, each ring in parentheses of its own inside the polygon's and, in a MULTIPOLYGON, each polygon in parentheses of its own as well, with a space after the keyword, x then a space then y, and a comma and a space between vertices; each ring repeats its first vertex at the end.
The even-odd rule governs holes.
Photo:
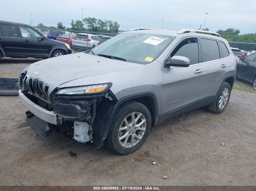
POLYGON ((48 56, 49 42, 46 37, 42 36, 44 40, 41 40, 41 34, 30 27, 19 26, 19 29, 22 36, 23 56, 48 56))

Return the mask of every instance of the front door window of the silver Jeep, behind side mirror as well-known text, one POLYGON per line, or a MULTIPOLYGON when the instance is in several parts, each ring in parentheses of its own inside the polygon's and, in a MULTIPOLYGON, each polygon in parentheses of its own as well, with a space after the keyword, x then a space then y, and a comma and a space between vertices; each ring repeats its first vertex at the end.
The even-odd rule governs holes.
POLYGON ((183 40, 171 53, 172 56, 185 56, 190 64, 198 64, 199 51, 197 38, 183 40))

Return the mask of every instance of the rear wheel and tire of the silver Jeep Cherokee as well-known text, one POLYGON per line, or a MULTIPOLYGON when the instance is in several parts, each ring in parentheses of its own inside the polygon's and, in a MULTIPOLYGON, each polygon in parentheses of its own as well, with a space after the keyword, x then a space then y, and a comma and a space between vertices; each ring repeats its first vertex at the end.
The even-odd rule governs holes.
POLYGON ((228 105, 230 93, 230 85, 227 82, 224 82, 208 109, 214 113, 222 113, 228 105), (228 90, 228 92, 226 92, 226 90, 228 90))

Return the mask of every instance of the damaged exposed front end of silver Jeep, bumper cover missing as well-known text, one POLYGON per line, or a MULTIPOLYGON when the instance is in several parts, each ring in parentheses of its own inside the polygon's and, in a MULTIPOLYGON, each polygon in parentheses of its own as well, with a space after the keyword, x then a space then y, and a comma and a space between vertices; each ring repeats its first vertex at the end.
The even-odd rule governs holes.
MULTIPOLYGON (((109 90, 112 84, 107 83, 107 85, 104 91, 88 95, 58 94, 58 91, 63 89, 58 87, 48 94, 48 84, 29 77, 24 71, 19 78, 20 97, 35 104, 40 108, 39 110, 46 111, 46 114, 41 112, 37 115, 36 111, 31 109, 26 112, 26 121, 42 138, 56 130, 78 142, 91 141, 95 147, 101 147, 102 135, 108 132, 104 126, 107 123, 105 120, 109 119, 110 115, 107 113, 112 111, 117 102, 109 90), (56 115, 54 122, 48 119, 47 111, 56 115), (45 119, 42 120, 44 115, 45 119)), ((38 108, 35 109, 38 110, 38 108)))

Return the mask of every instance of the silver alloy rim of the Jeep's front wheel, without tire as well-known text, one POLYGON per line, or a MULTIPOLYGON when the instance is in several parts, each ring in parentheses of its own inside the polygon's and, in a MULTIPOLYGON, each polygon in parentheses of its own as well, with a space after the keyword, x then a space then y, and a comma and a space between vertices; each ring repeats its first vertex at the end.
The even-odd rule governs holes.
POLYGON ((134 112, 126 116, 118 129, 120 145, 125 148, 136 145, 143 137, 146 125, 146 118, 140 112, 134 112))

